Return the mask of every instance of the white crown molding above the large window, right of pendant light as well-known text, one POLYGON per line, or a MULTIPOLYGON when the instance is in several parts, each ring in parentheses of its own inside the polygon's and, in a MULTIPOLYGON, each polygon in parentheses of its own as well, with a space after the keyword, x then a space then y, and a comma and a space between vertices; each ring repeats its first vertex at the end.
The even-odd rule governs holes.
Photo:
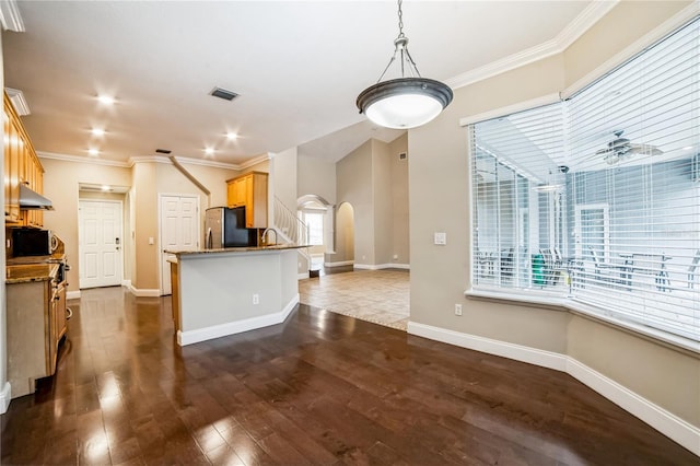
POLYGON ((614 1, 599 1, 596 0, 588 4, 574 20, 567 25, 558 35, 551 40, 547 40, 542 44, 536 45, 517 54, 505 57, 501 60, 493 61, 482 67, 476 68, 466 73, 462 73, 455 78, 452 78, 446 82, 452 89, 464 88, 465 85, 474 84, 475 82, 482 81, 488 78, 492 78, 497 74, 504 73, 506 71, 514 70, 515 68, 529 65, 532 62, 541 60, 552 55, 561 54, 579 37, 583 35, 591 26, 605 16, 619 0, 614 1))

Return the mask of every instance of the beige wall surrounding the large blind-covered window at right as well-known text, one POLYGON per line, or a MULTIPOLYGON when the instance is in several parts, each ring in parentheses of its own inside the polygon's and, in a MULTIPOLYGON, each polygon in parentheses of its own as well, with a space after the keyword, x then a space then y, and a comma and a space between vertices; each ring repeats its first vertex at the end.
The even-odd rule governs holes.
POLYGON ((409 132, 411 322, 569 354, 700 427, 698 359, 563 311, 467 300, 470 205, 463 117, 563 91, 681 5, 621 2, 564 54, 458 89, 433 123, 409 132), (623 20, 623 21, 620 21, 623 20), (643 27, 640 27, 642 25, 643 27), (578 57, 582 57, 579 61, 578 57), (447 245, 432 244, 446 232, 447 245), (454 315, 454 304, 464 315, 454 315))

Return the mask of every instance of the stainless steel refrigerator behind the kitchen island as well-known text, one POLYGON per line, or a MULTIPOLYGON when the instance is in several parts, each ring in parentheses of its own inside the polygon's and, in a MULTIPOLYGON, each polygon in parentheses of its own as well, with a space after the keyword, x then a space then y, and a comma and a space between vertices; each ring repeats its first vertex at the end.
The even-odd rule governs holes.
POLYGON ((207 249, 257 245, 257 230, 245 228, 245 207, 207 209, 205 234, 207 249))

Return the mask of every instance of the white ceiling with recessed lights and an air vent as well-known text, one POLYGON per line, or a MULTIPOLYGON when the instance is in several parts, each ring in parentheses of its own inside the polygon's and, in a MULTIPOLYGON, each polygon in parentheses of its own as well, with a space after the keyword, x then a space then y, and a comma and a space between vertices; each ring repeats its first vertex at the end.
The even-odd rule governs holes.
MULTIPOLYGON (((591 1, 407 1, 424 77, 459 77, 551 43, 591 1)), ((126 162, 173 155, 230 164, 299 147, 338 160, 374 137, 355 107, 398 34, 393 1, 18 2, 3 32, 5 86, 22 90, 37 151, 126 162), (214 86, 240 94, 209 96, 214 86), (113 108, 95 96, 117 98, 113 108), (93 137, 92 127, 106 130, 93 137), (228 141, 226 131, 240 138, 228 141), (211 145, 214 155, 205 155, 211 145)))

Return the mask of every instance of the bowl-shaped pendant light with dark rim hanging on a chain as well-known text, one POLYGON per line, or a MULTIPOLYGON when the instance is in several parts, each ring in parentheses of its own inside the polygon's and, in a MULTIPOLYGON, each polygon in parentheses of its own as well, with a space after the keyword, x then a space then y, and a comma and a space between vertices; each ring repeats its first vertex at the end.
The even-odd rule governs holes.
POLYGON ((360 93, 357 105, 376 125, 409 129, 435 118, 452 102, 452 89, 440 81, 422 78, 408 53, 408 37, 404 35, 401 0, 398 0, 398 36, 394 39, 394 56, 376 84, 360 93), (392 63, 399 56, 401 77, 382 82, 392 63))

